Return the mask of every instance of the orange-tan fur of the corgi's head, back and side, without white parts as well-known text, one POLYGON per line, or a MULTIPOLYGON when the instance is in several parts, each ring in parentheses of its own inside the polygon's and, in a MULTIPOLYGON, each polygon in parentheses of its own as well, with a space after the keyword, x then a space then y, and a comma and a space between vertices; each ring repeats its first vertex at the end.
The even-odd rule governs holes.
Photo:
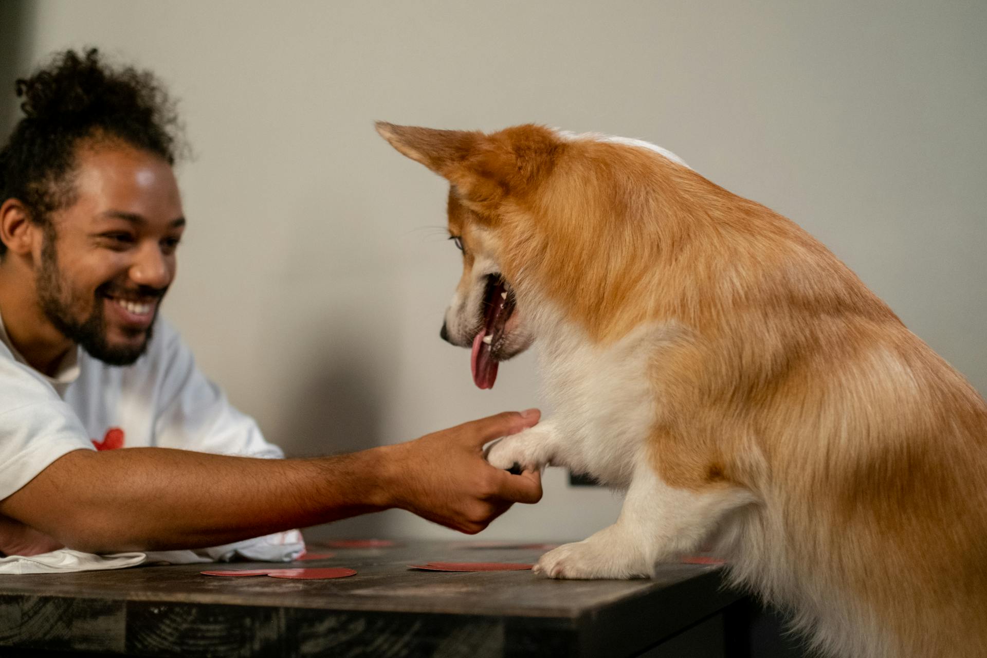
POLYGON ((504 277, 587 340, 681 328, 641 355, 651 464, 757 497, 722 545, 738 580, 823 647, 987 655, 987 405, 836 256, 643 148, 379 129, 453 183, 450 230, 493 233, 504 277))

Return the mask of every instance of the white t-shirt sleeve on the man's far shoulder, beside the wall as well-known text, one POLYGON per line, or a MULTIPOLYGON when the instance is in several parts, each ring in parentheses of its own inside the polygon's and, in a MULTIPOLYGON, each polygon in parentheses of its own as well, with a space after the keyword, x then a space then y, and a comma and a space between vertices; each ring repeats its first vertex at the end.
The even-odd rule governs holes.
POLYGON ((178 332, 161 323, 163 377, 158 392, 155 444, 220 455, 279 459, 250 416, 241 413, 195 366, 191 350, 178 332))

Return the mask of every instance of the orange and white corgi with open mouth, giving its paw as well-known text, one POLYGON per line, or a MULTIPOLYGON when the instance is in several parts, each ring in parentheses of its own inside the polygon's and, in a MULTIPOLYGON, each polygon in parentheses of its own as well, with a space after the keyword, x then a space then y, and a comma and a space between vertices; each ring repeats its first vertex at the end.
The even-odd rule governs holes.
POLYGON ((538 341, 554 415, 490 462, 626 492, 537 573, 713 543, 830 655, 987 656, 987 404, 836 256, 643 141, 377 130, 451 185, 442 336, 477 386, 538 341))

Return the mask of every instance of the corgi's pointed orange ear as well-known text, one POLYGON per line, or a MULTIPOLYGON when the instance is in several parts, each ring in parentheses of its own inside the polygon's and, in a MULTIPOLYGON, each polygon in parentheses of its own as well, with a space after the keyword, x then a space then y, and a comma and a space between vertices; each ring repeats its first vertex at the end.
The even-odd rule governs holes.
POLYGON ((522 125, 486 135, 377 121, 377 132, 402 154, 452 183, 477 204, 519 193, 546 171, 559 139, 549 129, 522 125))

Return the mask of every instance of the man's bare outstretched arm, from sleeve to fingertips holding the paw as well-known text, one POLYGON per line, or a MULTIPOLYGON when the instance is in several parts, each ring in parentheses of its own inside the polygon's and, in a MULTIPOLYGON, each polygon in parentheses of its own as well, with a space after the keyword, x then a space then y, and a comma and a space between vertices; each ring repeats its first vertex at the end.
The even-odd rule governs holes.
POLYGON ((510 475, 482 455, 484 444, 538 417, 504 412, 309 460, 78 450, 0 501, 0 514, 91 552, 209 547, 393 507, 474 534, 514 502, 541 499, 538 473, 510 475))

